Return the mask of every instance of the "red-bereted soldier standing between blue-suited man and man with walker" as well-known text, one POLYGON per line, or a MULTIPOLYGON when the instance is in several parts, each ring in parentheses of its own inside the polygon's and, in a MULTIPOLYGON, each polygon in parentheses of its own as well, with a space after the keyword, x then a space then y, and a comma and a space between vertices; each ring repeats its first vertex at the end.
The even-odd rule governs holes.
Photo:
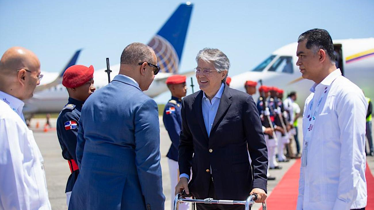
MULTIPOLYGON (((172 75, 166 80, 166 85, 171 92, 171 99, 168 101, 168 104, 165 106, 163 112, 163 123, 165 129, 169 133, 171 140, 171 146, 168 154, 168 163, 169 163, 169 174, 171 181, 171 198, 174 198, 174 187, 179 181, 179 170, 178 170, 178 146, 179 146, 179 134, 181 132, 181 108, 182 108, 182 97, 186 96, 187 87, 186 87, 186 76, 183 75, 172 75)), ((172 203, 172 206, 173 203, 172 203)), ((187 210, 189 208, 189 203, 179 204, 181 210, 187 210)))

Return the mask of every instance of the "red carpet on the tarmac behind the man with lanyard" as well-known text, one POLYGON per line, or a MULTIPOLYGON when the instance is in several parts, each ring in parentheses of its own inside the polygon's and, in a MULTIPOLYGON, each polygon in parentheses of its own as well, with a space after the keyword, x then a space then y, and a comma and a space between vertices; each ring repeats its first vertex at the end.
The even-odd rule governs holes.
MULTIPOLYGON (((296 160, 266 199, 269 210, 296 209, 300 163, 300 159, 296 160)), ((365 175, 368 185, 368 204, 365 210, 374 210, 374 177, 368 165, 365 175)))

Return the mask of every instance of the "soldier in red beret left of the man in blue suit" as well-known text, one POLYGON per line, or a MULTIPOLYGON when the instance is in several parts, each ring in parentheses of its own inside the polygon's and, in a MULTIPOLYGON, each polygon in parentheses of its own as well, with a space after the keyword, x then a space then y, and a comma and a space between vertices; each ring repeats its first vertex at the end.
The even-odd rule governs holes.
POLYGON ((62 149, 62 157, 68 160, 71 175, 66 185, 66 203, 69 207, 70 195, 79 174, 76 160, 77 135, 80 112, 83 102, 95 91, 93 86, 93 67, 73 65, 64 73, 62 85, 69 93, 68 104, 57 118, 57 136, 62 149))

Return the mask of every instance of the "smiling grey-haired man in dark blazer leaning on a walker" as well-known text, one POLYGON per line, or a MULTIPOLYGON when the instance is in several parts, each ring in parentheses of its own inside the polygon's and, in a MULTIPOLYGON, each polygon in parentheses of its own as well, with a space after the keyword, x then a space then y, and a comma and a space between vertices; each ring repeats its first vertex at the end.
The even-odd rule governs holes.
MULTIPOLYGON (((178 149, 181 175, 175 191, 184 189, 200 199, 245 200, 257 194, 256 202, 261 203, 267 196, 267 149, 253 98, 226 85, 230 62, 220 50, 200 50, 196 62, 201 91, 182 102, 178 149), (193 175, 188 184, 191 167, 193 175)), ((197 209, 244 206, 197 204, 197 209)))

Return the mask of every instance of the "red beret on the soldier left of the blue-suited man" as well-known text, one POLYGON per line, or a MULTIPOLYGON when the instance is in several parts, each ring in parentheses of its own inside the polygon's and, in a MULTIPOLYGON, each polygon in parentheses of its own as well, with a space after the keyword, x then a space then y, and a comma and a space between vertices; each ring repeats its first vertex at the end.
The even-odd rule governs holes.
POLYGON ((69 88, 79 87, 93 78, 93 66, 72 65, 62 77, 62 85, 69 88))

